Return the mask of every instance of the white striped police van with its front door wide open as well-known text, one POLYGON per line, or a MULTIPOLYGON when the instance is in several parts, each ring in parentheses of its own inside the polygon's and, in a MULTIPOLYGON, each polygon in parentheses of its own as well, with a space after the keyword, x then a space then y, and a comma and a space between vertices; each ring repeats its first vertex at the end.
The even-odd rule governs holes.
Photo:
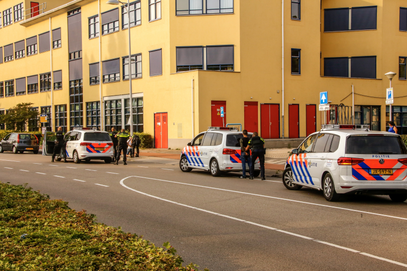
MULTIPOLYGON (((55 146, 55 133, 46 131, 44 133, 42 155, 51 156, 55 146)), ((66 143, 67 159, 72 159, 75 164, 81 161, 104 160, 109 164, 113 157, 113 142, 110 135, 104 131, 97 131, 95 128, 75 127, 73 131, 64 135, 66 143)), ((56 161, 61 161, 63 153, 55 157, 56 161)))

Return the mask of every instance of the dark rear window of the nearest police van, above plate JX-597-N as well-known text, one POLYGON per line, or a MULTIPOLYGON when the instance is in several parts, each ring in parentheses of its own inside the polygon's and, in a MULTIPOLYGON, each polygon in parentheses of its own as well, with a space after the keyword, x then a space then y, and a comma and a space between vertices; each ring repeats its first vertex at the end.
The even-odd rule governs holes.
POLYGON ((346 154, 381 155, 407 154, 398 136, 350 136, 346 142, 346 154))

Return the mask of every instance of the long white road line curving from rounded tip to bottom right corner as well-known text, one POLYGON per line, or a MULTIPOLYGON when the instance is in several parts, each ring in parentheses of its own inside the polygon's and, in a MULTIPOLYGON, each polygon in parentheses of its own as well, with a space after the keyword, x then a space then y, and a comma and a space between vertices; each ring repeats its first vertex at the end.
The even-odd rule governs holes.
MULTIPOLYGON (((323 241, 316 240, 316 239, 314 239, 314 238, 307 237, 307 236, 304 236, 304 235, 300 235, 300 234, 297 234, 297 233, 293 233, 293 232, 289 232, 289 231, 285 231, 285 230, 279 230, 279 229, 271 228, 271 227, 268 227, 268 226, 266 226, 266 225, 261 225, 261 224, 257 224, 257 223, 250 222, 250 221, 246 221, 246 220, 243 220, 243 219, 239 219, 239 218, 235 218, 235 217, 229 217, 229 216, 226 216, 226 215, 221 215, 221 214, 218 214, 218 213, 211 212, 211 211, 209 211, 209 210, 204 210, 204 209, 196 208, 196 207, 193 207, 193 206, 181 204, 181 203, 178 203, 178 202, 175 202, 175 201, 171 201, 171 200, 159 198, 159 197, 156 197, 156 196, 147 194, 147 193, 143 193, 143 192, 141 192, 141 191, 137 191, 137 190, 135 190, 135 189, 132 189, 132 188, 130 188, 130 187, 128 187, 128 186, 126 186, 126 185, 124 184, 124 180, 127 179, 127 178, 131 178, 131 177, 138 177, 138 178, 147 178, 147 177, 129 176, 129 177, 125 177, 125 178, 123 178, 123 179, 120 180, 120 184, 121 184, 123 187, 125 187, 125 188, 127 188, 127 189, 129 189, 129 190, 131 190, 131 191, 137 192, 137 193, 139 193, 139 194, 142 194, 142 195, 146 195, 146 196, 153 197, 153 198, 156 198, 156 199, 160 199, 160 200, 163 200, 163 201, 167 201, 167 202, 170 202, 170 203, 175 203, 175 204, 177 204, 177 205, 182 205, 182 206, 185 206, 185 207, 188 207, 188 208, 192 208, 192 209, 195 209, 195 210, 200 210, 200 211, 203 211, 203 212, 206 212, 206 213, 210 213, 210 214, 213 214, 213 215, 225 217, 225 218, 228 218, 228 219, 233 219, 233 220, 237 220, 237 221, 240 221, 240 222, 249 223, 249 224, 254 225, 254 226, 259 226, 259 227, 263 227, 263 228, 275 230, 275 231, 278 231, 278 232, 281 232, 281 233, 286 233, 286 234, 293 235, 293 236, 300 237, 300 238, 304 238, 304 239, 307 239, 307 240, 313 240, 313 241, 315 241, 315 242, 318 242, 318 243, 321 243, 321 244, 324 244, 324 245, 332 246, 332 247, 339 248, 339 249, 344 249, 344 250, 347 250, 347 251, 350 251, 350 252, 353 252, 353 253, 359 253, 359 254, 364 255, 364 256, 372 257, 372 258, 375 258, 375 259, 378 259, 378 260, 387 261, 387 262, 390 262, 390 263, 394 263, 394 264, 397 264, 397 265, 400 265, 400 266, 407 267, 407 264, 405 264, 405 263, 401 263, 401 262, 389 260, 389 259, 386 259, 386 258, 374 256, 374 255, 371 255, 371 254, 368 254, 368 253, 365 253, 365 252, 359 252, 359 251, 354 250, 354 249, 345 248, 345 247, 338 246, 338 245, 335 245, 335 244, 323 242, 323 241)), ((153 179, 153 178, 147 178, 147 179, 153 179)), ((154 180, 158 180, 158 179, 154 179, 154 180)), ((170 182, 170 181, 166 181, 166 180, 163 180, 163 181, 164 181, 164 182, 170 182)), ((176 183, 176 182, 170 182, 170 183, 176 183)), ((179 183, 179 184, 182 184, 182 183, 179 183)), ((97 185, 97 184, 95 184, 95 185, 97 185)), ((186 184, 186 185, 188 185, 188 184, 186 184)), ((224 190, 224 189, 219 189, 219 190, 224 190)), ((239 193, 243 193, 243 192, 239 192, 239 193)), ((249 193, 244 193, 244 194, 249 194, 249 193)), ((251 195, 252 195, 252 194, 251 194, 251 195)))

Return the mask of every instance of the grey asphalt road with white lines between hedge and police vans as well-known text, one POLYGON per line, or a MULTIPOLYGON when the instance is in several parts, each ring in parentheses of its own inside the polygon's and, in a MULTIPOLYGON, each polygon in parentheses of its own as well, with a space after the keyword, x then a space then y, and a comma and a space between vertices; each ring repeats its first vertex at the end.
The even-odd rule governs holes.
POLYGON ((169 241, 201 268, 407 270, 407 202, 387 196, 327 202, 322 192, 288 191, 278 178, 183 173, 177 160, 163 158, 127 166, 50 160, 0 154, 0 180, 27 183, 158 246, 169 241))

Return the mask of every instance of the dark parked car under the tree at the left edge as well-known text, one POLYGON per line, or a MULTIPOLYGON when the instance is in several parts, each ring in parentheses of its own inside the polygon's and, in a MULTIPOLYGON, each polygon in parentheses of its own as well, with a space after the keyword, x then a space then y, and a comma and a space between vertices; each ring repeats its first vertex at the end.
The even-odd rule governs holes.
POLYGON ((33 152, 38 154, 40 149, 40 136, 34 134, 24 134, 24 133, 11 133, 8 134, 0 142, 0 153, 3 153, 5 150, 12 150, 14 154, 18 152, 20 154, 26 152, 33 152))

